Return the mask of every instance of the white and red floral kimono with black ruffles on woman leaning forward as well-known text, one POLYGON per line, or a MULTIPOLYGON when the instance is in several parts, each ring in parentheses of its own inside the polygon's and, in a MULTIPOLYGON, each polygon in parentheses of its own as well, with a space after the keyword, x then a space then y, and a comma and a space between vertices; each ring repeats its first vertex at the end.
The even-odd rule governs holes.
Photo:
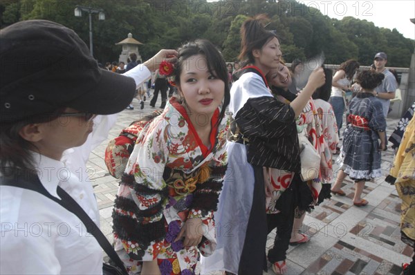
POLYGON ((161 274, 194 274, 199 252, 216 247, 213 212, 227 167, 225 119, 212 117, 207 148, 175 97, 138 135, 113 210, 115 248, 130 274, 157 259, 161 274), (174 241, 188 218, 201 218, 198 247, 174 241))

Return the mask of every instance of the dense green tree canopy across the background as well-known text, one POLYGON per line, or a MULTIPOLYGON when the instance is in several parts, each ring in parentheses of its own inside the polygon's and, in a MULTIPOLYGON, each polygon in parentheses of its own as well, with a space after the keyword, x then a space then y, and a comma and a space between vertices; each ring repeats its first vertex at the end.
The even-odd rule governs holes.
POLYGON ((72 28, 89 45, 89 20, 87 15, 74 16, 77 5, 105 12, 104 21, 93 15, 92 23, 93 52, 100 61, 116 61, 121 48, 115 44, 129 32, 144 44, 140 46, 143 59, 161 48, 178 48, 185 41, 203 38, 212 41, 226 61, 235 61, 241 48, 241 23, 260 13, 268 15, 267 28, 277 32, 288 62, 324 51, 326 64, 358 59, 369 65, 374 55, 383 51, 388 55, 388 66, 409 67, 415 46, 413 39, 396 29, 378 28, 353 17, 331 19, 295 0, 2 0, 0 26, 47 19, 72 28))

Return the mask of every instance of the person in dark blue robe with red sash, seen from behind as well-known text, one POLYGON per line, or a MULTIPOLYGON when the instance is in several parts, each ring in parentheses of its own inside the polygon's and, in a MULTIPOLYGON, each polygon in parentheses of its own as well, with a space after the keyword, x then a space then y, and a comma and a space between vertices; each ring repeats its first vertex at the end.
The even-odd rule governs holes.
POLYGON ((338 158, 340 170, 331 188, 331 193, 346 196, 341 187, 348 175, 355 181, 353 205, 356 207, 369 203, 361 198, 365 182, 382 176, 380 151, 386 148, 386 120, 382 102, 376 97, 374 89, 384 78, 382 73, 371 70, 364 70, 356 77, 362 90, 350 102, 347 115, 349 125, 344 130, 343 145, 338 158))

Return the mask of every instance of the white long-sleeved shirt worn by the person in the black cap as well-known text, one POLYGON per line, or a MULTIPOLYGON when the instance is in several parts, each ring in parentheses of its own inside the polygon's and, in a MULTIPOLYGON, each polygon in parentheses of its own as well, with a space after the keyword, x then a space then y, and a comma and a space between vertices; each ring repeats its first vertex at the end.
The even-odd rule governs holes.
MULTIPOLYGON (((137 86, 151 74, 142 65, 125 75, 137 86)), ((93 132, 61 161, 33 153, 39 179, 56 198, 64 189, 99 226, 100 215, 86 161, 103 142, 117 115, 99 115, 93 132)), ((0 274, 102 274, 102 249, 75 214, 28 189, 0 186, 0 274)))

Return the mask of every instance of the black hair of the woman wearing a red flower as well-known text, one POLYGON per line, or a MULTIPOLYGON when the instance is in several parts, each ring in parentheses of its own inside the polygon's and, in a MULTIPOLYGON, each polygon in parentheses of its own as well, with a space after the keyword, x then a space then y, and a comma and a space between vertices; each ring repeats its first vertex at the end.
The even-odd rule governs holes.
POLYGON ((185 61, 194 55, 204 55, 208 65, 209 73, 221 79, 225 83, 225 96, 219 121, 225 116, 225 109, 230 102, 230 88, 228 85, 228 68, 219 50, 208 40, 199 39, 189 42, 178 49, 178 57, 174 64, 174 75, 176 84, 180 85, 180 75, 185 66, 185 61))

